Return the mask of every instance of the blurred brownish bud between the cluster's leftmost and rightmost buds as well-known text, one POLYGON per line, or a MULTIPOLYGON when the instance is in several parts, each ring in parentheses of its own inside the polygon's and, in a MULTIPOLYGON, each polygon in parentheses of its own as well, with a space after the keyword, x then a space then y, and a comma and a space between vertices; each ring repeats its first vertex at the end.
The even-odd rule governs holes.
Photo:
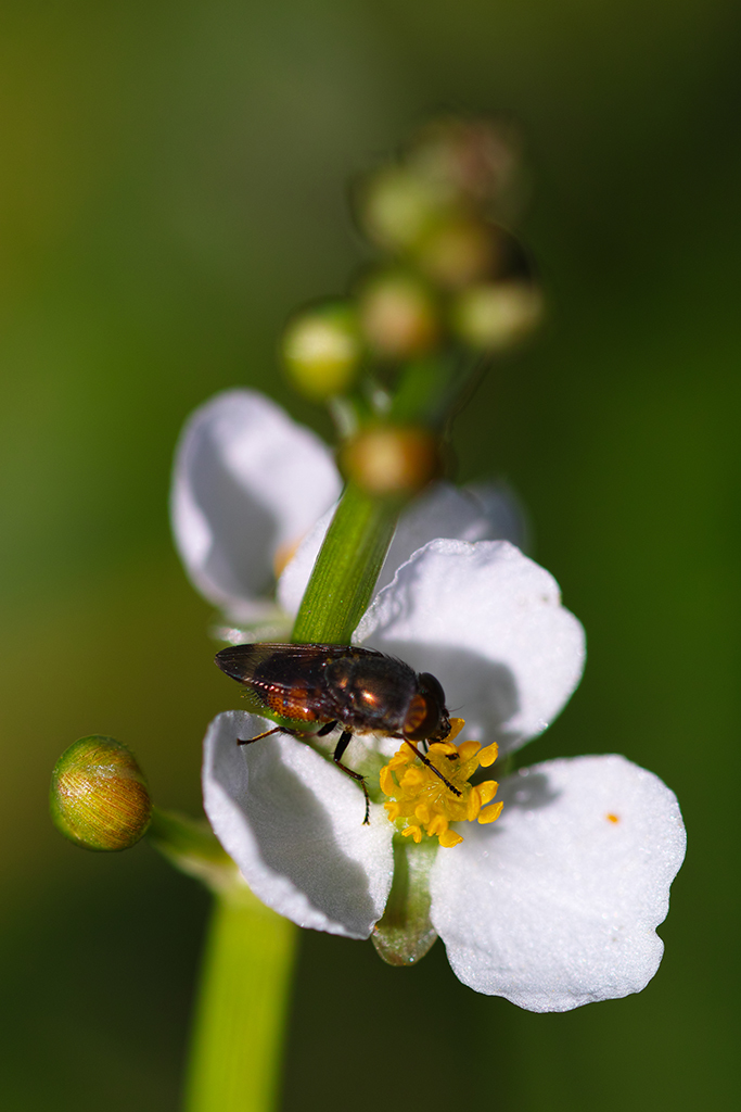
POLYGON ((403 270, 377 274, 358 300, 360 327, 375 355, 408 359, 437 342, 437 306, 428 287, 413 275, 403 270))

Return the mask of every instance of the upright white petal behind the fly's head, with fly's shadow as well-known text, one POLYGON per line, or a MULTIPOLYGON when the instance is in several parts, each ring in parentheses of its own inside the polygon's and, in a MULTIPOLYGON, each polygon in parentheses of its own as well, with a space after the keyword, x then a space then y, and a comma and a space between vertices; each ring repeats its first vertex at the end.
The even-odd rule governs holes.
POLYGON ((414 553, 353 641, 431 672, 465 737, 502 753, 545 729, 584 663, 583 629, 555 579, 495 540, 433 540, 414 553))

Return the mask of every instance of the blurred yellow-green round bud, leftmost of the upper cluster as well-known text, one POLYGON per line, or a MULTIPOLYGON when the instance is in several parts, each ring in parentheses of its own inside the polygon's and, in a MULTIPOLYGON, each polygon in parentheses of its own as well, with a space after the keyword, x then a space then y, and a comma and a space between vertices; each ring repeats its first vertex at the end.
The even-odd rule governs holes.
POLYGON ((362 356, 353 308, 333 302, 294 317, 283 334, 281 355, 302 394, 317 401, 343 394, 362 356))

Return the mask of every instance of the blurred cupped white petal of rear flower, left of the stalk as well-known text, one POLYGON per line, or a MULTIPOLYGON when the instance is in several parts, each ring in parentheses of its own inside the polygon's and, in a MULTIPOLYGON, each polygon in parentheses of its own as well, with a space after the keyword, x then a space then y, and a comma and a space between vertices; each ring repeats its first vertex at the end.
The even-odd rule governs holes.
POLYGON ((178 550, 203 595, 237 617, 273 583, 273 563, 338 497, 331 453, 253 390, 218 394, 178 445, 171 517, 178 550))

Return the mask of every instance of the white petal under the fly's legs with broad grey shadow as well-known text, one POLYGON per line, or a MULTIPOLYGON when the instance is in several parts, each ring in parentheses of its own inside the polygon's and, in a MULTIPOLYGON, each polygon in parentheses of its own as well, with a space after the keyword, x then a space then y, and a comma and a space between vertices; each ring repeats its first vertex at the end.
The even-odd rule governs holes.
POLYGON ((203 743, 203 806, 213 832, 269 907, 299 926, 367 939, 391 887, 393 828, 356 784, 271 723, 228 711, 203 743))

